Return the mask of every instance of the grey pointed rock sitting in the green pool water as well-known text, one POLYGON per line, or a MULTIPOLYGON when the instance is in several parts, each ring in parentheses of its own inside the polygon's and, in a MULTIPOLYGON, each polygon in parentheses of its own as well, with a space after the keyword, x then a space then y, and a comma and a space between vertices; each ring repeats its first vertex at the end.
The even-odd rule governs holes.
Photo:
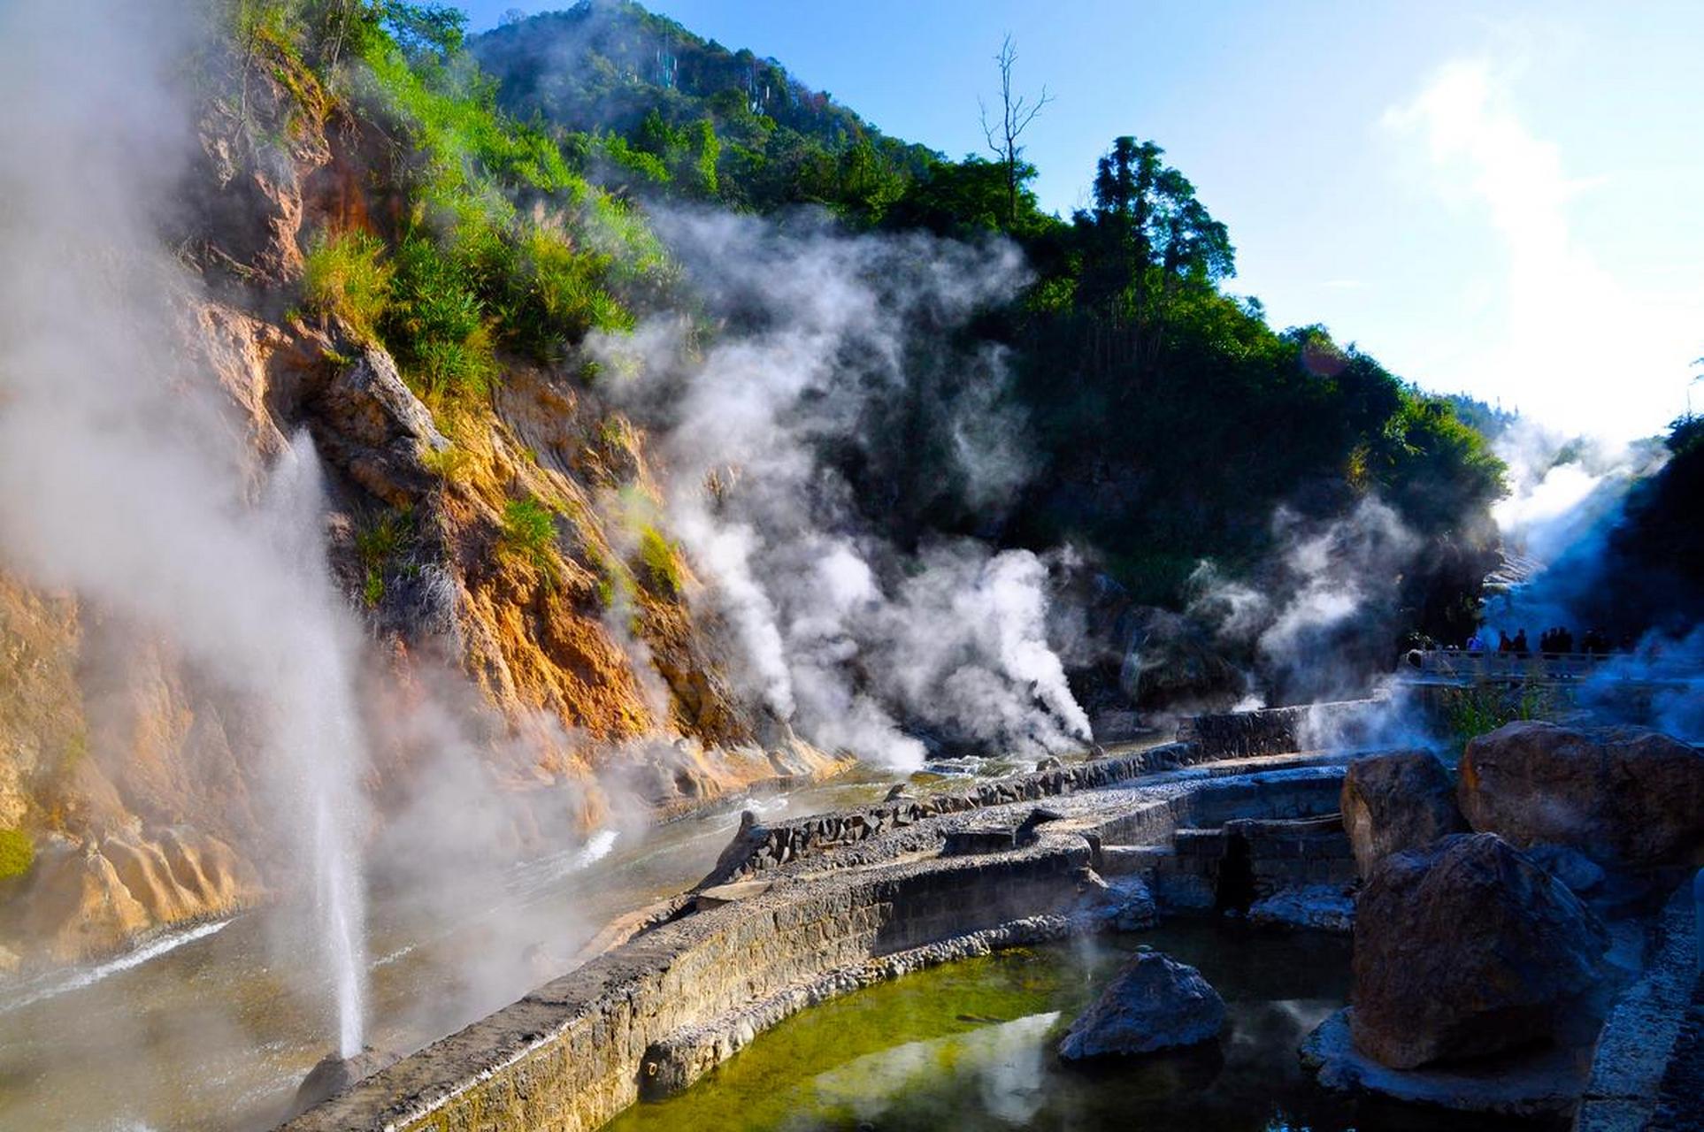
POLYGON ((1060 1057, 1085 1061, 1198 1045, 1218 1037, 1225 1003, 1201 972, 1159 952, 1142 952, 1077 1016, 1060 1057))

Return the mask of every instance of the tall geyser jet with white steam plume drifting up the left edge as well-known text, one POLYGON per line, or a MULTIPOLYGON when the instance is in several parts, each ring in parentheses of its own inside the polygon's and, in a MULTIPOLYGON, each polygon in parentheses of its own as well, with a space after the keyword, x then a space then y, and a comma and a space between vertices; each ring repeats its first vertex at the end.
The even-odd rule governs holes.
POLYGON ((0 558, 169 640, 252 713, 269 831, 308 873, 308 946, 361 1043, 356 637, 298 439, 261 461, 181 334, 164 254, 198 5, 0 9, 0 558))

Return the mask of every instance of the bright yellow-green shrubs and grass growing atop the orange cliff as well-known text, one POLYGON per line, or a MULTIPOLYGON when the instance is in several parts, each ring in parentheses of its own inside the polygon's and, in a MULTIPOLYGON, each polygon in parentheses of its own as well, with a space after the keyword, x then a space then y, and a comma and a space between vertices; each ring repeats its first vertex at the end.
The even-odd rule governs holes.
MULTIPOLYGON (((435 410, 482 403, 503 352, 554 363, 591 330, 627 330, 673 266, 634 209, 569 167, 557 141, 496 107, 462 53, 465 14, 399 0, 233 0, 249 70, 300 104, 339 99, 397 153, 402 214, 307 245, 303 310, 380 342, 435 410), (268 54, 271 53, 271 54, 268 54), (288 80, 288 82, 286 82, 288 80), (325 92, 331 92, 327 95, 325 92)), ((685 131, 682 172, 714 184, 714 131, 685 131)))

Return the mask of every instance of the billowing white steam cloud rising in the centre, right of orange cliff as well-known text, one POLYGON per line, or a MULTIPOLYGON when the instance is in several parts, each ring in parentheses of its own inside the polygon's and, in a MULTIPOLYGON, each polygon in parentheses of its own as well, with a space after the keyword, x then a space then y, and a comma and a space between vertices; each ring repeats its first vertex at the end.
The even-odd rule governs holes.
POLYGON ((1004 357, 953 334, 1022 283, 1016 249, 854 237, 809 214, 658 225, 721 332, 702 356, 680 322, 595 349, 665 434, 670 517, 716 580, 748 689, 806 739, 898 768, 922 763, 917 732, 1019 751, 1089 739, 1046 640, 1046 563, 971 540, 907 552, 842 472, 862 461, 990 516, 1010 497, 1026 460, 1004 357), (934 443, 951 483, 910 478, 918 414, 947 422, 934 443))

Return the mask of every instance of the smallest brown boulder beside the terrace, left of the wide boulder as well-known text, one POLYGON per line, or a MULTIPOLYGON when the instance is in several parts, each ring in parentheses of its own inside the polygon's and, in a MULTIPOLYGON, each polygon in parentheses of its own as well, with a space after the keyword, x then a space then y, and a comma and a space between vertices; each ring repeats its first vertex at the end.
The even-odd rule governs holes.
POLYGON ((1339 809, 1355 849, 1355 870, 1363 878, 1392 853, 1467 829, 1455 805, 1450 771, 1430 751, 1355 759, 1343 773, 1339 809))

